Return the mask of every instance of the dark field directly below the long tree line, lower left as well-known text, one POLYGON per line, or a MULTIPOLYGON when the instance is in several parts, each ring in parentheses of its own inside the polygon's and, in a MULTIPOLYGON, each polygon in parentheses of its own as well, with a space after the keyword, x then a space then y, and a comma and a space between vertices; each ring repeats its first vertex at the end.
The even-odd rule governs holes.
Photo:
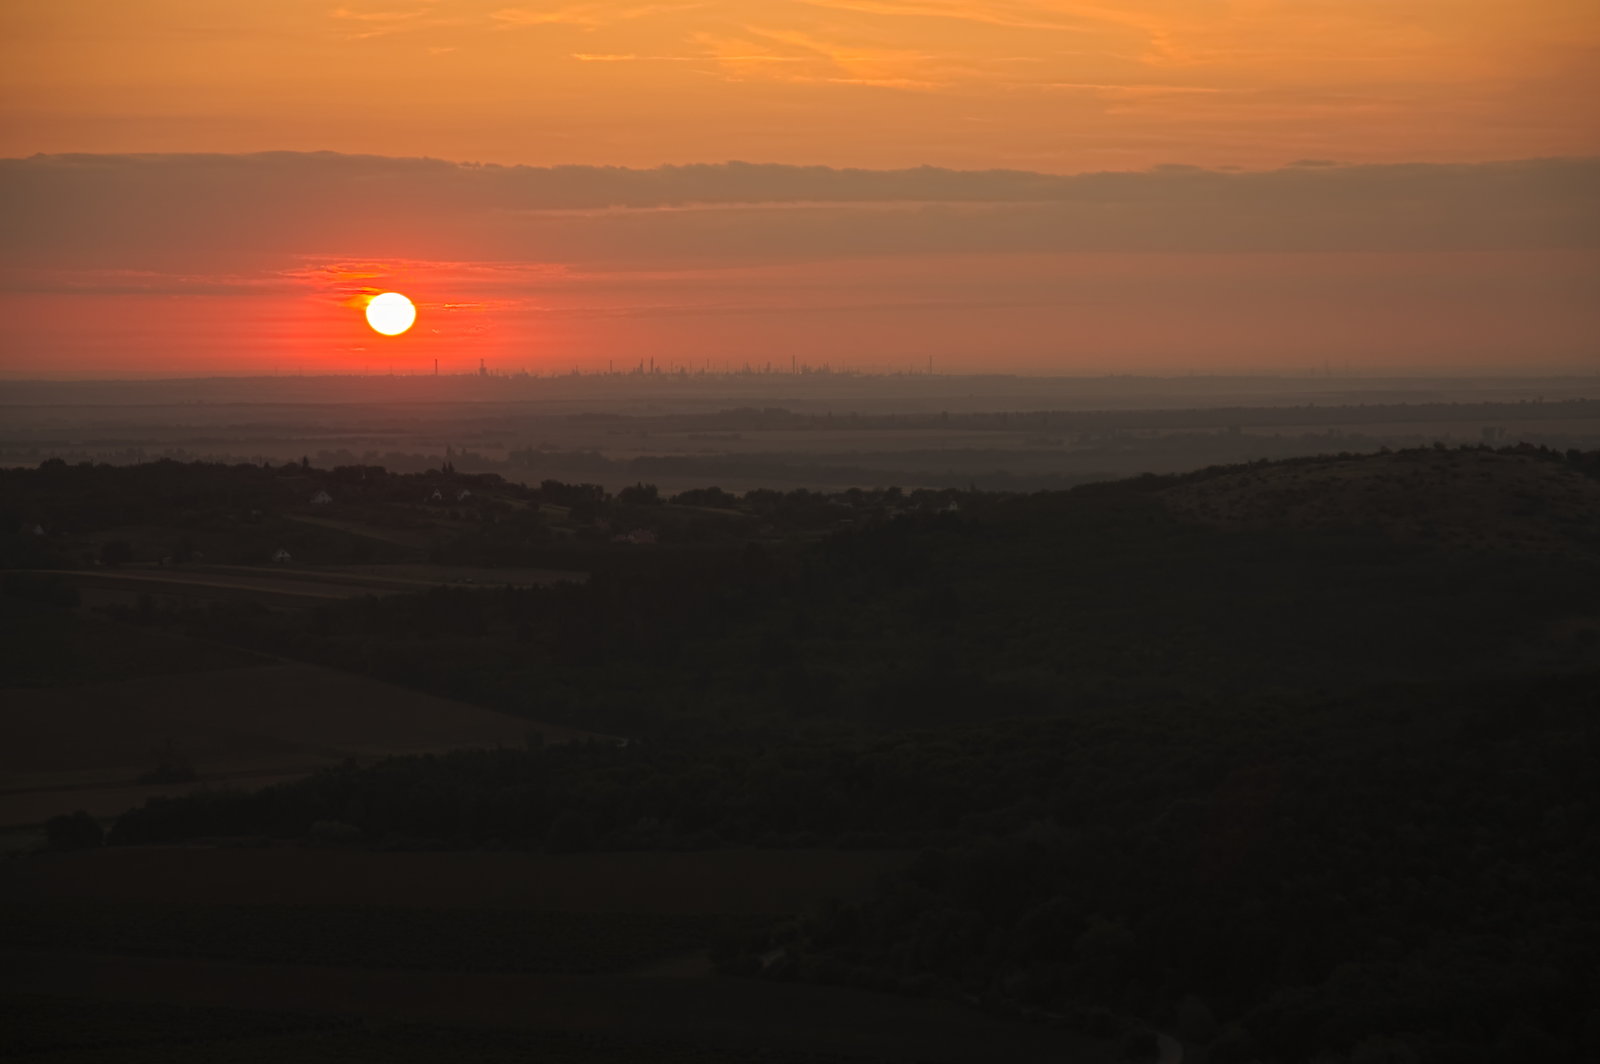
POLYGON ((602 973, 866 894, 898 851, 110 848, 0 874, 0 941, 69 952, 602 973))

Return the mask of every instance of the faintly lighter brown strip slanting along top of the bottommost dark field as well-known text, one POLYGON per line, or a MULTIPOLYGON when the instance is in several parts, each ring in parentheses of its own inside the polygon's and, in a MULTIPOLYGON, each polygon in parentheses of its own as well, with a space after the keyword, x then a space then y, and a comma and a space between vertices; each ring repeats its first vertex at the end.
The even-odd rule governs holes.
POLYGON ((771 1045, 874 1061, 1072 1064, 1112 1045, 949 1002, 757 979, 643 979, 0 952, 0 990, 621 1038, 771 1045))

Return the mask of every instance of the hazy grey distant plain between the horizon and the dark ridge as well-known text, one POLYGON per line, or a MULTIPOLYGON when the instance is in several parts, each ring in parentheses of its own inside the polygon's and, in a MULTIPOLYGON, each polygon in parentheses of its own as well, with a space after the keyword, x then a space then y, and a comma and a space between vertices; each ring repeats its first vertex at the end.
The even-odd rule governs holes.
POLYGON ((538 483, 1051 488, 1432 443, 1600 445, 1594 378, 854 373, 13 382, 0 461, 451 461, 538 483))

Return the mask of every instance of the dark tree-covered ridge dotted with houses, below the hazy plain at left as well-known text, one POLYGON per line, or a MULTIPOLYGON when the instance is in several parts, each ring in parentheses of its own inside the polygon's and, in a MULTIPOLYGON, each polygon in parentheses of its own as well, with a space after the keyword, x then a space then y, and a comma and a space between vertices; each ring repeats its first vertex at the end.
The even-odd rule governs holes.
MULTIPOLYGON (((266 563, 283 547, 296 563, 429 560, 450 565, 574 568, 594 547, 648 530, 661 544, 739 546, 901 512, 936 512, 973 493, 899 488, 838 493, 699 488, 666 498, 654 483, 610 493, 595 483, 382 466, 317 469, 309 459, 270 464, 157 461, 0 469, 0 568, 90 568, 208 560, 266 563), (331 504, 310 501, 326 493, 331 504), (334 518, 341 526, 294 517, 334 518), (357 526, 411 533, 360 534, 357 526)), ((603 563, 602 563, 603 565, 603 563)))

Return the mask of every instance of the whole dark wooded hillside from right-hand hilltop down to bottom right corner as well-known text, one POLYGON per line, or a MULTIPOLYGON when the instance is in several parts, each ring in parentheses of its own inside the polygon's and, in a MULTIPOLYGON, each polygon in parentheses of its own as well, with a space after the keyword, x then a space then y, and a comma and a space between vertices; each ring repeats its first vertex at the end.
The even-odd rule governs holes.
MULTIPOLYGON (((1576 1059, 1600 1038, 1595 472, 1254 466, 904 506, 582 586, 157 610, 629 741, 197 794, 109 842, 912 851, 723 926, 718 966, 1147 1021, 1216 1061, 1576 1059)), ((126 942, 96 926, 78 949, 126 942)), ((146 949, 218 955, 173 936, 146 949)))

